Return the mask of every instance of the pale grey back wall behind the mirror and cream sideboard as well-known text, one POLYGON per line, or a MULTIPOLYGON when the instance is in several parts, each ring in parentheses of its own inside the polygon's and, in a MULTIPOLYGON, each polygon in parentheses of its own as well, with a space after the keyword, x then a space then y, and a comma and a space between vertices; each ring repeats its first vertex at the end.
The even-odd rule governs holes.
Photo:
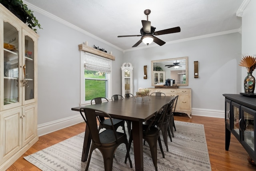
POLYGON ((130 62, 134 66, 133 93, 139 87, 152 87, 152 60, 184 56, 188 56, 189 84, 186 87, 192 89, 192 109, 224 111, 222 94, 240 91, 241 82, 237 80, 240 78, 240 67, 238 66, 241 56, 240 33, 126 52, 124 61, 130 62), (194 61, 199 63, 199 78, 194 78, 194 61), (147 80, 143 79, 144 65, 148 66, 147 80))

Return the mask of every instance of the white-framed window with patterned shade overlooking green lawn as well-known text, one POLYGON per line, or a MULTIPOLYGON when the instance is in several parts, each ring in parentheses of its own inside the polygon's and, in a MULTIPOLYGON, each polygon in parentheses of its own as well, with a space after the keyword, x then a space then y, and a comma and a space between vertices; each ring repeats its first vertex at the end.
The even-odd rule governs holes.
POLYGON ((81 104, 111 94, 112 60, 81 51, 81 104))

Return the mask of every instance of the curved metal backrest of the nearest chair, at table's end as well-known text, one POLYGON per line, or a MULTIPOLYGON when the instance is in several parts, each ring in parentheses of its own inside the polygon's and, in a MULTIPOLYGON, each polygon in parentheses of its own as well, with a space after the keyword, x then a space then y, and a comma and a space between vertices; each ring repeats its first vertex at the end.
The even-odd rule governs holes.
POLYGON ((101 111, 101 110, 81 107, 80 114, 82 115, 86 125, 89 128, 89 132, 92 137, 93 143, 95 143, 96 145, 101 145, 99 131, 98 131, 98 125, 97 125, 97 119, 96 119, 96 117, 98 117, 99 115, 102 117, 108 117, 110 119, 111 124, 112 124, 112 130, 114 131, 114 135, 115 135, 116 141, 117 141, 117 135, 116 135, 116 131, 115 131, 115 128, 113 125, 113 121, 112 121, 111 116, 108 113, 101 111))

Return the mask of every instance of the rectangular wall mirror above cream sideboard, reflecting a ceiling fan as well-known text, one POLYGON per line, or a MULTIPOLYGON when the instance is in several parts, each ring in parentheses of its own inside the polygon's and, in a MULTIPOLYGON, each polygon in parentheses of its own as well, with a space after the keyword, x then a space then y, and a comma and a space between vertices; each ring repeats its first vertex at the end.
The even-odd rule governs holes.
POLYGON ((188 57, 151 61, 151 83, 165 85, 166 80, 174 80, 173 85, 188 86, 188 57))

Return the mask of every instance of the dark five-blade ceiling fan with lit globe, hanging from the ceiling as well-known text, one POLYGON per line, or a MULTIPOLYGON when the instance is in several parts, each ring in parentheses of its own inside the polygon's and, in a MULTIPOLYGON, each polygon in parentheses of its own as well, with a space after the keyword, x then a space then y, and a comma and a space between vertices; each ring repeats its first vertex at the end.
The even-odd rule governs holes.
POLYGON ((156 44, 162 46, 166 42, 160 40, 156 36, 162 35, 162 34, 170 34, 170 33, 177 33, 180 32, 180 27, 174 27, 174 28, 168 28, 165 30, 160 30, 155 32, 155 27, 151 26, 151 22, 148 21, 148 15, 150 14, 151 10, 144 10, 144 14, 147 16, 147 20, 141 20, 142 22, 142 28, 140 29, 141 35, 127 35, 127 36, 117 36, 118 38, 122 37, 134 37, 134 36, 141 36, 140 40, 132 46, 132 48, 137 47, 141 42, 145 44, 150 44, 152 42, 155 42, 156 44))

